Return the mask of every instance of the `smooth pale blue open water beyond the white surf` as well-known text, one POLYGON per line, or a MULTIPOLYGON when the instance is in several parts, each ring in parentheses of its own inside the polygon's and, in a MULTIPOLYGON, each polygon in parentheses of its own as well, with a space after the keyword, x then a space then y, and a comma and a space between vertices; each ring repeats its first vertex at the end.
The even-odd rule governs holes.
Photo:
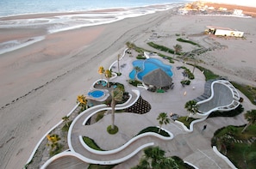
POLYGON ((1 0, 0 16, 73 12, 92 9, 131 8, 153 4, 184 3, 188 1, 189 0, 1 0))

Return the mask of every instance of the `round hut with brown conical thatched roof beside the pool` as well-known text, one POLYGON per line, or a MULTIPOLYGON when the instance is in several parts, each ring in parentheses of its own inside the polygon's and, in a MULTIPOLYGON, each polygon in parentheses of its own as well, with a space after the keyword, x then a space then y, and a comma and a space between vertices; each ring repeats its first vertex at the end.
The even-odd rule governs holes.
POLYGON ((154 69, 147 75, 142 77, 142 81, 148 86, 153 86, 155 88, 172 88, 173 82, 172 77, 167 75, 162 69, 154 69))

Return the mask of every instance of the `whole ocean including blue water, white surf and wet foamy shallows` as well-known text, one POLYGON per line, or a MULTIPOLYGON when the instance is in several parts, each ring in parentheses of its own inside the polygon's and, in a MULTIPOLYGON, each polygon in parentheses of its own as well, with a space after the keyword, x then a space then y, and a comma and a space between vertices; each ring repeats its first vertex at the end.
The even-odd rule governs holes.
MULTIPOLYGON (((10 28, 43 28, 48 33, 58 33, 79 27, 120 21, 128 17, 152 14, 157 11, 172 9, 181 3, 193 0, 1 0, 0 32, 10 28), (114 11, 89 12, 91 10, 119 9, 114 11), (73 14, 73 12, 78 12, 73 14), (64 15, 54 15, 65 13, 64 15), (8 19, 8 16, 31 14, 53 14, 36 18, 8 19)), ((29 37, 28 39, 11 39, 3 41, 0 37, 0 55, 34 44, 45 38, 29 37)))

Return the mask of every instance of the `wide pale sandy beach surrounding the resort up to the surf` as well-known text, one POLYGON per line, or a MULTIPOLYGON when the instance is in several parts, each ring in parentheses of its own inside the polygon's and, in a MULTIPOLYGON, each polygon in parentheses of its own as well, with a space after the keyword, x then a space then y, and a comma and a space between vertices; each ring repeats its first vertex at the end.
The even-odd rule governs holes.
MULTIPOLYGON (((22 168, 41 136, 72 110, 78 94, 100 78, 98 67, 108 68, 128 41, 153 50, 147 45, 153 32, 161 36, 156 43, 170 48, 178 44, 176 33, 205 47, 216 45, 215 51, 198 56, 200 65, 231 81, 256 86, 255 22, 256 18, 175 15, 167 10, 48 34, 40 42, 0 55, 1 167, 22 168), (203 35, 209 25, 244 31, 245 38, 203 35)), ((45 31, 0 28, 0 42, 45 31)), ((184 51, 191 48, 184 46, 184 51)))

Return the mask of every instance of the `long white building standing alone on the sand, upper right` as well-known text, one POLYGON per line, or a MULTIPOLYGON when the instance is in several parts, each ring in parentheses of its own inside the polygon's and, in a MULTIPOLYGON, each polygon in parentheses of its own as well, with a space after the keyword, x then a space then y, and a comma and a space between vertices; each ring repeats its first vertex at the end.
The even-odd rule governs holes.
POLYGON ((216 36, 243 37, 244 32, 237 31, 228 27, 207 27, 205 33, 215 34, 216 36))

